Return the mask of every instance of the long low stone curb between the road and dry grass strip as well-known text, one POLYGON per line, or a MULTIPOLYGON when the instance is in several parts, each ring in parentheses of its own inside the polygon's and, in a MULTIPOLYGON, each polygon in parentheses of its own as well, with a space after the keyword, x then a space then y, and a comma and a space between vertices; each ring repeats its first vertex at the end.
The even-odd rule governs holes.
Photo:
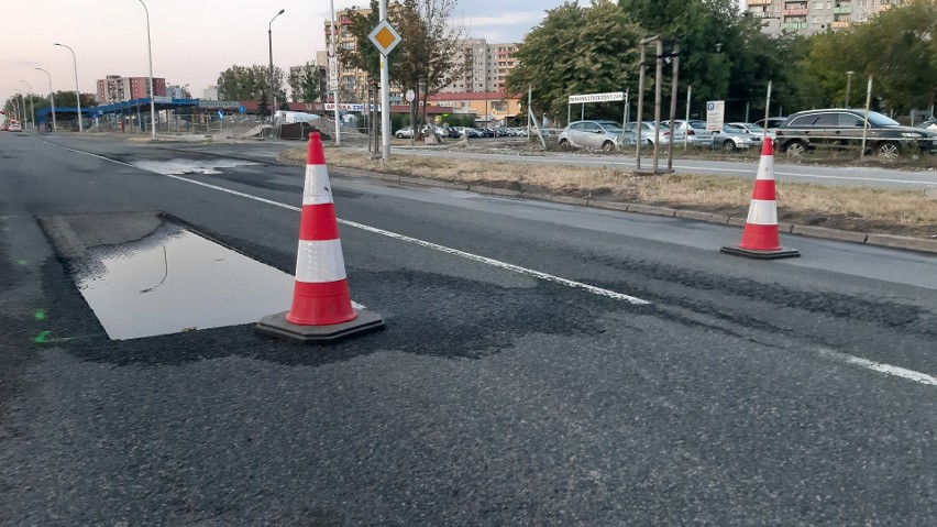
MULTIPOLYGON (((331 168, 330 168, 331 169, 331 168)), ((509 196, 523 197, 528 199, 539 199, 543 201, 552 201, 554 204, 578 205, 593 207, 605 210, 616 210, 620 212, 633 212, 640 215, 662 216, 666 218, 680 218, 693 221, 704 221, 706 223, 715 223, 729 227, 745 227, 747 218, 741 216, 723 216, 710 212, 702 212, 687 209, 672 209, 668 207, 658 207, 653 205, 629 204, 622 201, 607 201, 592 198, 577 198, 572 196, 542 194, 542 193, 525 193, 522 190, 510 190, 507 188, 496 188, 487 186, 471 186, 466 184, 444 183, 437 179, 423 177, 397 176, 395 174, 384 174, 357 168, 335 167, 335 172, 348 174, 354 177, 366 177, 371 179, 383 179, 385 182, 405 183, 409 185, 418 185, 425 187, 453 188, 459 190, 468 190, 483 194, 486 196, 509 196)), ((828 229, 826 227, 798 226, 793 223, 778 223, 778 231, 784 234, 794 234, 808 238, 819 238, 824 240, 835 240, 851 243, 861 243, 863 245, 874 245, 891 249, 904 249, 908 251, 918 251, 925 253, 937 254, 937 240, 927 240, 924 238, 897 237, 893 234, 869 234, 866 232, 842 231, 839 229, 828 229)))

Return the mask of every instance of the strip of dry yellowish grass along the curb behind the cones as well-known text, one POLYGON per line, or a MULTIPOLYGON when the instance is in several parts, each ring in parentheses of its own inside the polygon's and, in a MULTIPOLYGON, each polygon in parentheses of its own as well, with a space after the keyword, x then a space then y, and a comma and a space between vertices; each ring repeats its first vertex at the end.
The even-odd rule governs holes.
MULTIPOLYGON (((283 156, 304 164, 306 150, 288 151, 283 156)), ((752 168, 752 178, 688 174, 636 176, 606 167, 414 155, 398 155, 384 164, 367 154, 344 149, 328 149, 327 158, 329 165, 335 167, 741 217, 747 215, 751 201, 754 175, 752 168)), ((779 182, 776 188, 779 220, 783 222, 916 238, 937 234, 937 199, 928 197, 924 190, 790 182, 779 182)))

